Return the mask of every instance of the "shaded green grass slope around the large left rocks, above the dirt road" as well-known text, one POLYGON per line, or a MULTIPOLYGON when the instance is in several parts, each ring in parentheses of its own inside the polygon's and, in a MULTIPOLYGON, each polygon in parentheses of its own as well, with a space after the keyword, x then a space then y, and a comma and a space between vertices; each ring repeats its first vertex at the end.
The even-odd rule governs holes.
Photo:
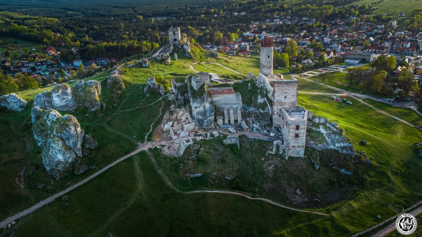
MULTIPOLYGON (((113 97, 103 81, 102 98, 106 102, 104 111, 87 112, 84 109, 76 109, 75 113, 67 112, 74 115, 85 132, 99 142, 97 149, 80 158, 83 164, 101 169, 133 151, 137 147, 136 142, 144 142, 151 124, 158 117, 161 101, 149 104, 161 95, 151 92, 150 97, 146 98, 144 90, 140 90, 142 85, 127 83, 126 86, 121 95, 113 97), (146 107, 136 108, 137 106, 146 107), (128 109, 131 110, 121 112, 128 109)), ((163 111, 168 105, 168 101, 163 102, 163 111)), ((42 163, 42 148, 35 142, 31 131, 32 106, 33 102, 29 102, 21 112, 0 112, 0 131, 3 133, 0 137, 0 219, 30 207, 96 171, 88 170, 80 175, 71 173, 53 184, 50 183, 52 178, 47 175, 42 163), (20 176, 20 172, 23 172, 23 175, 20 176), (22 189, 18 181, 22 183, 22 189), (36 189, 37 184, 43 184, 45 187, 36 189)), ((161 121, 162 115, 158 121, 161 121)), ((154 124, 153 131, 157 125, 154 124)))

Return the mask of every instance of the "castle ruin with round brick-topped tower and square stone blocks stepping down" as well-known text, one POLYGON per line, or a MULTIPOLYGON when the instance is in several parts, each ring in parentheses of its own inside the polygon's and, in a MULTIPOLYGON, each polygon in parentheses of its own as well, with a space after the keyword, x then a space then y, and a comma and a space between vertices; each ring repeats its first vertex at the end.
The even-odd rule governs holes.
POLYGON ((272 99, 272 124, 281 129, 286 159, 289 156, 303 157, 308 110, 298 106, 298 81, 295 78, 286 80, 281 74, 273 75, 272 54, 273 39, 267 36, 261 41, 258 81, 272 99))

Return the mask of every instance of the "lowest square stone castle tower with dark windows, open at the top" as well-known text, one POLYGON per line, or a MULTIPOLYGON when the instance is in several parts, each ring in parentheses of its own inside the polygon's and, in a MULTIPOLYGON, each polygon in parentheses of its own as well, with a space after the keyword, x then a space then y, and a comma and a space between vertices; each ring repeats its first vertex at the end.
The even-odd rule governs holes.
MULTIPOLYGON (((285 145, 288 147, 288 156, 303 157, 305 154, 306 127, 308 111, 303 118, 292 118, 287 110, 281 110, 281 131, 285 145), (299 126, 298 128, 296 126, 299 126)), ((286 158, 288 157, 286 155, 286 158)))

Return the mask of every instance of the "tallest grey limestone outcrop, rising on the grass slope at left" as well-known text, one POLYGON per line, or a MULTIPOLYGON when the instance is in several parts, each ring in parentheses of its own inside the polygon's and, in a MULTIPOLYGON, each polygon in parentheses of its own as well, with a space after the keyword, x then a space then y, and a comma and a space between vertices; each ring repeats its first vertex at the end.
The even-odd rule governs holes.
POLYGON ((76 156, 82 156, 85 131, 72 115, 34 106, 31 110, 32 131, 37 144, 44 148, 43 163, 56 179, 66 174, 76 156))

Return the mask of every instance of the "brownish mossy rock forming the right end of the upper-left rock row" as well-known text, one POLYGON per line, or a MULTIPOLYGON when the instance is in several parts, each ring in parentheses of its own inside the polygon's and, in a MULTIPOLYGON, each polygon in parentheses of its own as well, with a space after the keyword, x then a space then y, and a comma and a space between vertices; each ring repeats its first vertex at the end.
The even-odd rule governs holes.
POLYGON ((78 107, 86 107, 89 111, 101 109, 101 84, 90 80, 79 80, 73 87, 73 96, 78 107))

